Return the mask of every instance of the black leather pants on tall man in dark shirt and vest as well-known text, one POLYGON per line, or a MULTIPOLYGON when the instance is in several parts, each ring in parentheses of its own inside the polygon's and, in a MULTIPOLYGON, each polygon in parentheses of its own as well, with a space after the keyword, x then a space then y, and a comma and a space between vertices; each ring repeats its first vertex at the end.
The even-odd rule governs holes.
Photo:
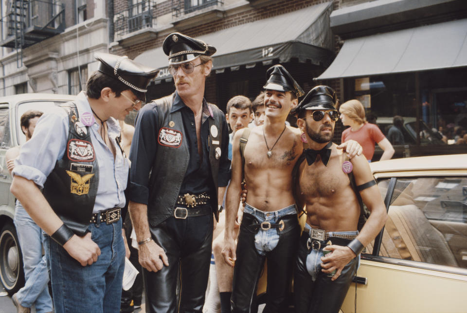
POLYGON ((202 312, 213 241, 213 215, 169 218, 151 227, 169 260, 158 272, 144 270, 146 312, 202 312), (180 295, 177 278, 180 271, 180 295))

